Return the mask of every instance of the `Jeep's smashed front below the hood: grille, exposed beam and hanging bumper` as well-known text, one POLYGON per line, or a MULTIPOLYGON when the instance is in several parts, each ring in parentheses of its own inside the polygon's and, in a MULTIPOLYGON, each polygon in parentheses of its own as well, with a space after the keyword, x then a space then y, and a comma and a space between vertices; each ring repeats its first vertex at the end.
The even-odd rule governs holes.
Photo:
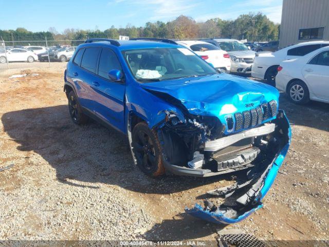
POLYGON ((243 112, 242 121, 235 114, 234 132, 228 133, 230 121, 222 125, 218 118, 194 116, 185 112, 177 116, 166 112, 166 120, 158 126, 163 162, 167 171, 178 175, 208 177, 241 171, 236 183, 208 191, 225 198, 221 205, 206 201, 187 213, 213 223, 235 223, 262 207, 290 144, 288 119, 277 104, 243 112), (256 116, 256 117, 254 117, 256 116), (253 128, 250 128, 253 127, 253 128), (236 131, 240 129, 240 131, 236 131))

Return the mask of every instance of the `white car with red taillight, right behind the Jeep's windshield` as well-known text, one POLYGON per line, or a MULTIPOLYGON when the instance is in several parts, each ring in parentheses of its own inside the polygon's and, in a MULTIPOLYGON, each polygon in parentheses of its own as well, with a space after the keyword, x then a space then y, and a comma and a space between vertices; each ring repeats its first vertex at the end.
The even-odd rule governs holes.
POLYGON ((230 56, 225 50, 198 40, 180 40, 176 41, 176 43, 193 50, 198 56, 212 64, 215 68, 225 70, 225 72, 230 72, 230 56))

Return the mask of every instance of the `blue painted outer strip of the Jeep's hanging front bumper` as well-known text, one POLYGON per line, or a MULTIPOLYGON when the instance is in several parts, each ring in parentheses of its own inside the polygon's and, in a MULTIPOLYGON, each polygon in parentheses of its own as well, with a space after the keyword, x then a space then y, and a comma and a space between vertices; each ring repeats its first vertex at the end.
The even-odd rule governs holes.
MULTIPOLYGON (((271 168, 268 170, 266 174, 266 178, 264 180, 264 184, 260 190, 261 193, 261 199, 263 199, 272 186, 280 166, 282 165, 284 158, 288 152, 289 145, 291 142, 291 128, 289 121, 284 113, 284 111, 281 111, 284 115, 285 121, 288 123, 288 143, 283 146, 281 149, 280 153, 276 157, 276 159, 270 164, 271 168)), ((195 204, 195 206, 191 209, 186 208, 185 211, 188 214, 191 214, 192 216, 203 219, 212 223, 216 224, 232 224, 232 223, 237 223, 242 221, 243 219, 247 218, 250 214, 252 214, 255 210, 258 210, 259 208, 263 207, 263 203, 259 202, 258 205, 254 206, 252 209, 246 211, 244 214, 236 217, 236 218, 227 218, 225 217, 222 213, 215 213, 215 212, 210 212, 209 210, 204 210, 204 208, 199 205, 195 204)))

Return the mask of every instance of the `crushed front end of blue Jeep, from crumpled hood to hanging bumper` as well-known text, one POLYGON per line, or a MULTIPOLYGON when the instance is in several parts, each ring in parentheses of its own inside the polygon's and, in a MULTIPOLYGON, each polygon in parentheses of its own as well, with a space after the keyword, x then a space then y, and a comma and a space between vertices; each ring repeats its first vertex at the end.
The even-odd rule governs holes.
POLYGON ((233 83, 229 91, 229 84, 214 83, 210 84, 213 92, 202 91, 200 96, 192 91, 199 89, 192 82, 178 89, 171 85, 147 89, 177 110, 159 111, 157 116, 165 119, 152 126, 167 172, 193 177, 234 172, 235 184, 208 191, 224 198, 221 205, 206 201, 204 207, 186 208, 197 218, 226 224, 262 207, 291 138, 288 119, 278 107, 277 90, 239 79, 228 83, 233 83))

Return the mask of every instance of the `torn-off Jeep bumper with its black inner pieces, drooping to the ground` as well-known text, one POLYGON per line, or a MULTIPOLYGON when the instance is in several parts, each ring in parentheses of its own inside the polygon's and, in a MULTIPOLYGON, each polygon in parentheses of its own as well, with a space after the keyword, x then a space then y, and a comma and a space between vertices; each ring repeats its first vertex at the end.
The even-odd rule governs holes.
POLYGON ((208 191, 210 195, 224 197, 224 203, 214 205, 206 201, 205 207, 196 204, 192 209, 186 208, 187 213, 213 223, 231 224, 245 219, 263 206, 261 200, 276 178, 291 138, 289 122, 282 110, 279 110, 276 119, 271 123, 275 124, 272 133, 255 137, 255 146, 259 147, 261 152, 251 162, 254 166, 240 175, 235 184, 208 191))

